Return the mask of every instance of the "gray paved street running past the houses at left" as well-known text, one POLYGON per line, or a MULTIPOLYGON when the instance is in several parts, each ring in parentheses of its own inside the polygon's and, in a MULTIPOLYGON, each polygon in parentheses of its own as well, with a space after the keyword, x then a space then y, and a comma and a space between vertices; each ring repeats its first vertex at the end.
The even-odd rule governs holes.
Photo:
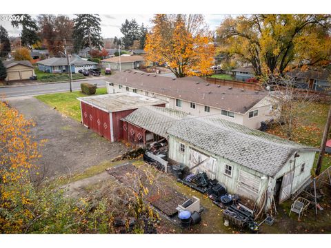
MULTIPOLYGON (((82 81, 74 81, 72 90, 81 90, 82 81)), ((89 80, 88 83, 97 83, 98 87, 106 87, 106 82, 101 79, 89 80)), ((68 92, 69 83, 49 83, 44 85, 26 85, 19 87, 0 87, 0 94, 5 97, 13 96, 34 96, 54 92, 68 92)))

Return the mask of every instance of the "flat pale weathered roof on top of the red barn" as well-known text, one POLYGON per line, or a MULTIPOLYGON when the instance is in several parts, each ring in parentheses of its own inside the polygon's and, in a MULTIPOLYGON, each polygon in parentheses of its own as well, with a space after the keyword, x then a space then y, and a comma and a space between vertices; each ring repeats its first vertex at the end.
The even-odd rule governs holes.
POLYGON ((120 92, 99 96, 78 97, 79 101, 87 103, 106 112, 137 109, 146 105, 161 105, 167 103, 156 98, 143 96, 134 92, 120 92))

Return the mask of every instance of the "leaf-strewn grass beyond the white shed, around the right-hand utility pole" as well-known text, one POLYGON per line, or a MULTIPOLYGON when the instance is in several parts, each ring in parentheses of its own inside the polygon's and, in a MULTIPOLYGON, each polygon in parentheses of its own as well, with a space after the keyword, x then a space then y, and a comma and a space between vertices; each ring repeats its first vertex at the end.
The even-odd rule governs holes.
MULTIPOLYGON (((293 141, 303 145, 319 148, 321 145, 321 139, 323 136, 326 118, 328 116, 329 107, 330 105, 326 103, 308 103, 308 105, 301 112, 301 123, 298 123, 294 128, 293 141)), ((285 134, 281 132, 281 128, 279 126, 275 126, 268 132, 285 138, 285 134)), ((318 155, 319 153, 317 152, 314 165, 316 165, 318 155)), ((331 155, 325 154, 321 171, 330 166, 331 155)))

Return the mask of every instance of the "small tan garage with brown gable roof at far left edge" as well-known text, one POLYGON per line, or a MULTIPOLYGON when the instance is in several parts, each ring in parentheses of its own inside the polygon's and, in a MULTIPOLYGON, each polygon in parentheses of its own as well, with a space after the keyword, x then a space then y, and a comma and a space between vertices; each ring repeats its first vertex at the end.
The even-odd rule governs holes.
POLYGON ((6 66, 6 81, 30 79, 34 75, 34 68, 30 61, 3 61, 6 66))

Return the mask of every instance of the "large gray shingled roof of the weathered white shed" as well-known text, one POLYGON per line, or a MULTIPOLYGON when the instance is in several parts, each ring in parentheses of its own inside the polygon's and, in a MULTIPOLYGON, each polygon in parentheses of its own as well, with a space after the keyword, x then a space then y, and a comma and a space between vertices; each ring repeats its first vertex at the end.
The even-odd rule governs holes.
POLYGON ((168 134, 268 176, 277 174, 294 152, 318 151, 217 117, 185 118, 168 134))

